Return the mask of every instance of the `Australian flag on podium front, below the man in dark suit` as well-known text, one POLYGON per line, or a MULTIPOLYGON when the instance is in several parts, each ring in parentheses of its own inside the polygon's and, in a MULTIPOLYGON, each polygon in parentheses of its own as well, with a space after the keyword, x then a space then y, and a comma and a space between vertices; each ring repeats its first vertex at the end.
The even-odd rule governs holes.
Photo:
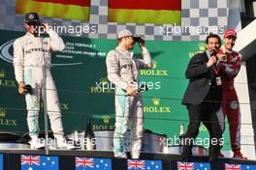
POLYGON ((177 161, 177 170, 210 170, 209 163, 177 161))

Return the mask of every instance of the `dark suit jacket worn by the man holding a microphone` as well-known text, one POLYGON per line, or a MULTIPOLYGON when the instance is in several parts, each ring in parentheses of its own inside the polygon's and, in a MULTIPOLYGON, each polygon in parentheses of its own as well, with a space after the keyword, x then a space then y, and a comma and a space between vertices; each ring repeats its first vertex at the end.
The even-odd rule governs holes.
MULTIPOLYGON (((208 55, 206 52, 197 53, 190 60, 185 73, 186 78, 189 79, 189 84, 182 100, 182 104, 200 104, 208 96, 209 90, 213 89, 212 85, 215 84, 216 79, 213 66, 208 68, 207 63, 208 55)), ((211 95, 210 99, 219 101, 219 104, 217 104, 217 106, 219 106, 221 101, 221 88, 214 88, 213 94, 214 95, 211 95)))

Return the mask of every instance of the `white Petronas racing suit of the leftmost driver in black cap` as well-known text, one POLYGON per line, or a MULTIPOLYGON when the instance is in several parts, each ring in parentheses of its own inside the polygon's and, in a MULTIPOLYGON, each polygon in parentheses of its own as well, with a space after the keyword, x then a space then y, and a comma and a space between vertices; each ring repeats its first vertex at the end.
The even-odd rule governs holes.
POLYGON ((61 51, 65 48, 62 39, 53 30, 48 30, 48 38, 34 37, 27 33, 16 39, 14 43, 14 68, 16 81, 31 85, 32 95, 26 94, 27 125, 29 135, 38 137, 38 116, 40 96, 44 96, 43 84, 46 78, 47 110, 51 129, 56 138, 63 137, 61 112, 56 87, 50 73, 51 51, 61 51), (46 68, 46 69, 45 69, 46 68), (46 70, 44 72, 44 70, 46 70))

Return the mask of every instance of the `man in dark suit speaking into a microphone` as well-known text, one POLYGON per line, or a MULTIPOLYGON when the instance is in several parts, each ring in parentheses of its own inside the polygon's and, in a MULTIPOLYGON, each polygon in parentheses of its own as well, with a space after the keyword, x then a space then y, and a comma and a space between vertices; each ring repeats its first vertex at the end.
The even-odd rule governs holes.
POLYGON ((210 33, 206 43, 208 49, 191 58, 185 73, 186 78, 189 79, 189 84, 182 104, 187 107, 189 125, 183 141, 181 156, 184 160, 192 156, 192 146, 199 133, 201 122, 208 128, 209 132, 209 161, 214 161, 218 157, 222 141, 222 132, 216 116, 216 111, 221 103, 221 80, 217 75, 216 53, 221 42, 217 35, 210 33))

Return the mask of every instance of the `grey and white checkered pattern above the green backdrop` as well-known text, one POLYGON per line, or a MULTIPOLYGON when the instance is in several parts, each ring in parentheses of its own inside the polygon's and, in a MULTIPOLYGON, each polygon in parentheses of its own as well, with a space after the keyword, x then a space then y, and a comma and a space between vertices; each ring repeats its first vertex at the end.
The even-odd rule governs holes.
MULTIPOLYGON (((16 0, 0 0, 0 29, 22 31, 23 14, 16 14, 16 0)), ((81 37, 116 39, 116 34, 129 29, 145 40, 156 41, 199 41, 208 32, 222 35, 228 24, 228 0, 182 0, 181 25, 165 24, 119 24, 108 22, 109 0, 91 0, 89 22, 48 18, 41 16, 42 22, 55 26, 89 26, 97 32, 80 35, 81 37)), ((76 36, 66 33, 65 36, 76 36)), ((78 35, 77 35, 78 36, 78 35)))

